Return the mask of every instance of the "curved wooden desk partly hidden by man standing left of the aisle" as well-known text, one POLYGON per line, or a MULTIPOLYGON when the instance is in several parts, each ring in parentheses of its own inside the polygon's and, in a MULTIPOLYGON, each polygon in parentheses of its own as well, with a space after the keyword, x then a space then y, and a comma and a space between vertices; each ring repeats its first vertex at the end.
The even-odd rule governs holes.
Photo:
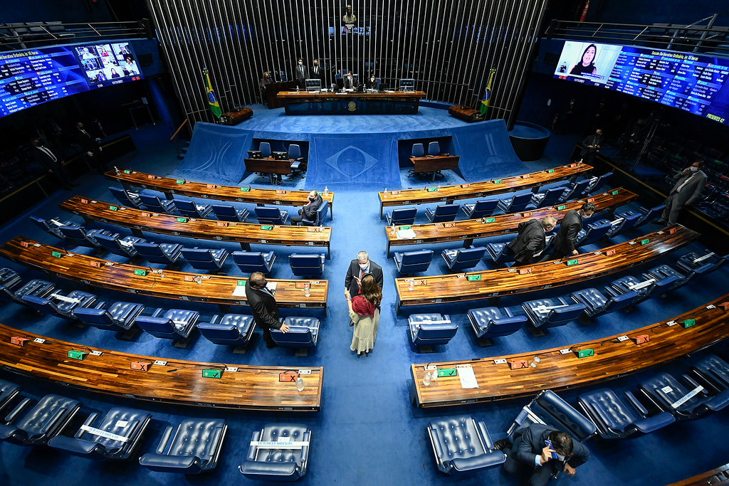
MULTIPOLYGON (((73 253, 37 243, 23 236, 17 236, 0 246, 0 256, 26 267, 94 287, 148 297, 208 302, 219 305, 221 310, 226 312, 230 310, 231 305, 246 305, 246 297, 239 294, 245 288, 246 277, 242 275, 205 275, 153 270, 142 265, 109 262, 73 253)), ((329 281, 273 278, 269 278, 268 281, 276 282, 278 307, 323 309, 326 315, 329 281), (310 283, 309 297, 304 295, 306 282, 310 283)))

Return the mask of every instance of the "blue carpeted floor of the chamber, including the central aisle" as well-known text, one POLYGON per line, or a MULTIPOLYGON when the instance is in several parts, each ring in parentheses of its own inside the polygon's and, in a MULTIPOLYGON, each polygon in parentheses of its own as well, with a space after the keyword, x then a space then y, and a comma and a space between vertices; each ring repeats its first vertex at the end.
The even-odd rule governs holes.
MULTIPOLYGON (((264 115, 267 114, 264 112, 264 115)), ((337 117, 291 117, 292 120, 278 117, 273 111, 268 113, 266 125, 275 123, 305 123, 308 129, 312 123, 321 126, 321 132, 333 130, 338 125, 337 117), (305 120, 308 119, 308 120, 305 120)), ((424 118, 424 123, 432 120, 424 118)), ((257 116, 252 122, 258 122, 257 116)), ((459 122, 460 123, 460 122, 459 122)), ((270 128, 273 129, 273 128, 270 128)), ((284 128, 276 128, 284 130, 284 128)), ((286 129, 293 130, 292 127, 286 129)), ((165 175, 174 171, 177 160, 171 145, 159 143, 167 133, 160 127, 147 127, 132 133, 139 153, 117 160, 114 165, 135 168, 165 175)), ((547 147, 545 158, 539 162, 513 162, 508 168, 491 168, 488 177, 506 176, 510 173, 537 171, 546 166, 564 162, 566 154, 574 146, 574 140, 553 137, 547 147)), ((512 154, 501 154, 512 160, 512 154)), ((486 171, 485 168, 480 168, 486 171)), ((473 168, 473 172, 477 168, 473 168)), ((418 186, 426 181, 408 179, 405 171, 400 173, 402 185, 418 186)), ((457 180, 457 176, 453 181, 457 180)), ((475 179, 471 179, 475 180, 475 179)), ((111 200, 106 189, 106 181, 99 176, 89 175, 82 179, 77 193, 111 200)), ((264 179, 253 181, 262 184, 264 179)), ((284 182, 284 187, 289 182, 284 182)), ((297 182, 296 184, 301 184, 297 182)), ((294 187, 291 185, 291 187, 294 187)), ((323 189, 323 188, 319 188, 323 189)), ((654 298, 630 310, 605 315, 592 323, 575 321, 557 329, 551 329, 545 337, 532 337, 524 330, 510 337, 496 340, 494 345, 483 348, 477 345, 467 325, 466 311, 469 307, 487 305, 486 302, 472 302, 468 305, 440 306, 438 311, 449 313, 451 318, 461 324, 458 334, 447 346, 437 346, 432 353, 419 353, 410 344, 406 315, 394 313, 393 278, 396 277, 394 264, 385 256, 385 238, 383 223, 378 217, 378 198, 375 192, 357 185, 336 187, 335 219, 331 224, 332 258, 327 260, 324 278, 330 280, 328 297, 329 315, 322 317, 319 345, 308 356, 295 357, 291 350, 276 348, 267 350, 260 339, 254 340, 252 348, 243 355, 233 354, 230 349, 212 345, 203 338, 193 340, 187 350, 174 348, 166 340, 158 340, 147 334, 141 334, 132 342, 117 340, 113 333, 102 332, 94 328, 79 328, 56 318, 36 315, 15 304, 0 307, 0 322, 27 329, 36 334, 44 334, 72 342, 112 350, 125 350, 131 353, 157 356, 161 358, 185 358, 194 361, 217 361, 226 364, 275 364, 280 366, 301 367, 318 365, 324 367, 324 389, 321 412, 302 414, 227 412, 195 407, 170 407, 160 404, 149 404, 130 399, 110 399, 99 393, 79 392, 71 388, 52 385, 39 380, 31 380, 8 372, 1 371, 0 377, 21 383, 25 393, 30 396, 42 396, 44 393, 61 393, 77 396, 85 404, 83 412, 93 409, 106 410, 114 404, 128 407, 139 407, 150 410, 155 417, 147 439, 141 444, 141 452, 156 447, 157 440, 163 430, 165 421, 174 422, 181 417, 223 417, 228 420, 230 430, 224 446, 222 458, 215 471, 198 477, 174 477, 171 474, 150 472, 139 466, 136 459, 124 463, 98 463, 83 458, 64 455, 44 447, 24 448, 12 444, 0 443, 0 484, 4 485, 82 485, 101 481, 113 485, 153 485, 179 481, 192 485, 220 485, 247 482, 237 469, 245 458, 251 431, 268 422, 298 422, 311 426, 313 430, 313 446, 311 447, 309 470, 300 483, 305 485, 343 484, 343 485, 423 485, 446 484, 453 479, 440 474, 434 466, 432 451, 425 434, 426 424, 433 418, 450 417, 468 414, 485 420, 494 439, 504 436, 510 421, 518 413, 525 401, 504 401, 494 404, 458 407, 435 411, 414 409, 408 401, 408 378, 410 363, 429 361, 447 361, 462 358, 480 358, 484 356, 500 356, 504 354, 539 350, 555 346, 566 346, 574 342, 608 336, 640 326, 650 324, 663 318, 685 312, 714 299, 727 291, 729 286, 729 270, 721 269, 711 275, 697 278, 691 286, 683 287, 669 294, 666 298, 654 298), (385 272, 383 293, 383 313, 379 326, 378 340, 375 350, 367 358, 357 358, 348 349, 351 341, 351 328, 347 325, 346 304, 343 298, 343 280, 350 259, 356 252, 366 250, 370 257, 382 264, 385 272)), ((69 216, 57 208, 57 204, 69 197, 69 192, 57 192, 48 200, 41 201, 31 208, 26 215, 14 222, 6 224, 1 232, 0 240, 7 240, 16 235, 26 235, 46 243, 57 243, 55 240, 36 229, 27 219, 27 214, 38 216, 69 216)), ((294 208, 289 208, 294 212, 294 208)), ((424 206, 418 207, 418 220, 426 222, 423 216, 424 206)), ((78 218, 71 219, 80 221, 78 218)), ((93 227, 104 227, 93 225, 93 227)), ((655 229, 648 225, 644 232, 655 229)), ((127 234, 122 231, 122 234, 127 234)), ((145 233, 149 240, 157 242, 171 240, 152 233, 145 233)), ((213 241, 194 241, 176 238, 189 246, 216 248, 225 246, 230 250, 235 245, 213 241)), ((616 241, 619 241, 617 239, 616 241)), ((434 250, 454 248, 456 243, 442 246, 430 246, 434 250)), ((263 248, 254 246, 254 249, 263 248)), ((276 251, 278 259, 272 278, 291 278, 287 256, 300 248, 271 247, 276 251)), ((90 250, 86 250, 89 252, 90 250)), ((118 259, 114 256, 105 256, 118 259)), ((668 256, 663 262, 671 262, 674 257, 668 256)), ((9 262, 0 262, 16 267, 9 262)), ((655 263, 655 264, 658 264, 655 263)), ((481 262, 478 269, 488 266, 481 262)), ((634 269, 635 273, 643 267, 634 269)), ((22 270, 25 278, 48 278, 28 270, 22 270)), ((183 267, 182 270, 189 270, 183 267)), ((225 273, 240 274, 235 265, 226 264, 225 273)), ((428 275, 445 273, 445 266, 439 258, 434 259, 428 275)), ((55 279, 63 289, 77 288, 73 283, 55 279)), ((604 281, 592 281, 591 286, 600 286, 604 281)), ((537 298, 550 294, 564 294, 571 288, 550 289, 548 292, 530 294, 537 298)), ((100 292, 100 297, 107 301, 112 299, 130 299, 128 294, 100 292)), ((141 299, 150 307, 187 307, 183 302, 167 302, 160 299, 141 299)), ((502 299, 499 305, 516 306, 521 297, 502 299)), ((184 303, 187 304, 187 303, 184 303)), ((200 310, 209 317, 217 313, 217 309, 205 305, 192 305, 190 308, 200 310)), ((247 312, 247 309, 242 309, 247 312)), ((292 310, 284 310, 284 315, 293 315, 292 310)), ((726 345, 720 345, 715 352, 729 358, 726 345)), ((661 369, 680 373, 686 369, 686 362, 676 362, 661 369)), ((650 375, 650 373, 648 373, 650 375)), ((621 389, 634 389, 635 383, 642 375, 626 377, 609 383, 609 386, 621 389)), ((574 398, 580 390, 563 393, 564 398, 574 404, 574 398)), ((625 439, 621 441, 604 441, 593 439, 588 442, 592 453, 590 461, 580 467, 577 476, 561 479, 561 482, 572 484, 601 485, 661 485, 678 479, 689 477, 706 469, 711 469, 728 460, 724 437, 729 435, 727 413, 720 412, 708 418, 692 423, 674 424, 649 436, 625 439)), ((476 477, 459 480, 459 484, 498 484, 512 485, 512 478, 504 477, 499 469, 483 472, 476 477)))

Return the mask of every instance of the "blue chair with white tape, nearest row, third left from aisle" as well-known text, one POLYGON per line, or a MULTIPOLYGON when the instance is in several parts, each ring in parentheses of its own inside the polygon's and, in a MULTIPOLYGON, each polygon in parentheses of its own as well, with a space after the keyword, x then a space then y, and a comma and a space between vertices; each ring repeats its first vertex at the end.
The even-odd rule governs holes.
POLYGON ((144 432, 147 431, 149 421, 152 420, 152 414, 149 412, 124 407, 110 409, 101 419, 98 419, 98 415, 97 412, 89 415, 83 426, 126 437, 127 441, 120 442, 79 428, 73 437, 55 436, 50 439, 48 445, 82 458, 128 459, 136 450, 144 432))

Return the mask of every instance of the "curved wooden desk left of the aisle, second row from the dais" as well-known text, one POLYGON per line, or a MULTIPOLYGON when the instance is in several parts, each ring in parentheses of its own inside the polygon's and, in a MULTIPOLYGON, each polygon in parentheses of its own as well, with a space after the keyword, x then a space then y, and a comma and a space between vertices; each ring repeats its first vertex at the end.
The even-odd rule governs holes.
POLYGON ((104 203, 81 196, 71 197, 58 206, 63 211, 82 216, 86 222, 101 221, 131 228, 134 235, 139 237, 144 230, 199 240, 235 241, 241 243, 243 250, 250 250, 251 243, 261 243, 281 246, 320 246, 327 248, 327 256, 330 254, 332 238, 330 227, 261 225, 195 219, 126 208, 119 204, 104 203), (263 227, 271 227, 271 230, 263 230, 263 227))

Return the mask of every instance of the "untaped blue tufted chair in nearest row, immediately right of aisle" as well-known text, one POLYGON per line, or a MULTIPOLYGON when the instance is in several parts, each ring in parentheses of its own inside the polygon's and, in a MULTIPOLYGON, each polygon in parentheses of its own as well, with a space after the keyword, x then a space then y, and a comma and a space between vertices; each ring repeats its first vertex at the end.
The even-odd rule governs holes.
POLYGON ((463 415, 432 420, 428 437, 439 471, 451 476, 473 474, 504 463, 506 455, 494 449, 486 423, 463 415))

